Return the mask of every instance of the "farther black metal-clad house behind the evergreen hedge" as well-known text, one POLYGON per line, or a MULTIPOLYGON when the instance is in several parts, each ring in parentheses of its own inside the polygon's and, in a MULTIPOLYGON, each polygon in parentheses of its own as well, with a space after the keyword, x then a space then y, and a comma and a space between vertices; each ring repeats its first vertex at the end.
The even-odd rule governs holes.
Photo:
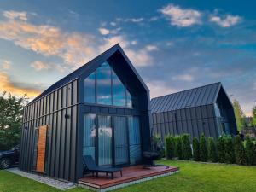
POLYGON ((168 134, 218 138, 237 133, 234 109, 221 83, 153 98, 151 112, 154 132, 163 141, 168 134))

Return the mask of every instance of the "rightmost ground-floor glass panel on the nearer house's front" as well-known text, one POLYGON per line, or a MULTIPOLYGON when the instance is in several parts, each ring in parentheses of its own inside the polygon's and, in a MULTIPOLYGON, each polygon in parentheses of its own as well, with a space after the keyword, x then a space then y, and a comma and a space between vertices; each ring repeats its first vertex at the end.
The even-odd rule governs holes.
POLYGON ((138 117, 128 118, 130 163, 137 164, 142 159, 141 132, 138 117))

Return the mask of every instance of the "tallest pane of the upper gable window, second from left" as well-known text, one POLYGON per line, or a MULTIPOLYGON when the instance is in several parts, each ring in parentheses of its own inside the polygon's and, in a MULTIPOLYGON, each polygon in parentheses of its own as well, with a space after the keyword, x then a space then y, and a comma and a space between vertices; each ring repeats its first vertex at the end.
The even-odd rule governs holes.
POLYGON ((104 62, 97 68, 97 103, 111 105, 111 67, 108 62, 104 62))

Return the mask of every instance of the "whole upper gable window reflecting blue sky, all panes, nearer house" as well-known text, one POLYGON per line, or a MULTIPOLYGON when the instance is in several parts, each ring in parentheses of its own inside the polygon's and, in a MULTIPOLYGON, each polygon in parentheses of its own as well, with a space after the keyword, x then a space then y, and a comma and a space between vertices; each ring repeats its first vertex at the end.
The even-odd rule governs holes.
POLYGON ((84 79, 84 102, 132 107, 131 94, 107 61, 84 79))

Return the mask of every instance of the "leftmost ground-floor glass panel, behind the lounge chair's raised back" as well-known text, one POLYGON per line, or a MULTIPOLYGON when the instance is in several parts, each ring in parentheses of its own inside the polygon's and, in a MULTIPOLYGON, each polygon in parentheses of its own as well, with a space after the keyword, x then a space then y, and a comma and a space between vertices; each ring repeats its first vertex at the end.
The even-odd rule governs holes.
POLYGON ((83 155, 91 155, 95 160, 96 114, 84 115, 83 155))

